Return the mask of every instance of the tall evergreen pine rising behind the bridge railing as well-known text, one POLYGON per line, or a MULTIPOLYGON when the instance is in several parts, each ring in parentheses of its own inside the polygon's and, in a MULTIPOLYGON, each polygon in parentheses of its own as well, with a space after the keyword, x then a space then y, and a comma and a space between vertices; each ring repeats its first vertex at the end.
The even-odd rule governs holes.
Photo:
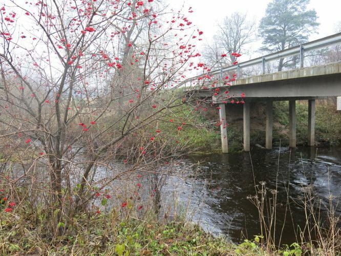
MULTIPOLYGON (((319 25, 315 10, 307 10, 309 0, 273 0, 261 19, 259 33, 267 52, 283 51, 308 41, 319 25)), ((278 71, 285 66, 280 59, 278 71)))

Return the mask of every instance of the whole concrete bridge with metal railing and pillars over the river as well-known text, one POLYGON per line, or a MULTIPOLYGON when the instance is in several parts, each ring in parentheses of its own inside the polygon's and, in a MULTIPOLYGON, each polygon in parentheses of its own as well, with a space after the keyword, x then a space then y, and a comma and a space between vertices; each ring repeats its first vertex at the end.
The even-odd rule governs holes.
MULTIPOLYGON (((315 142, 315 100, 328 96, 341 96, 341 62, 328 63, 320 66, 304 67, 305 53, 316 49, 323 49, 341 43, 341 33, 324 37, 306 44, 292 47, 284 51, 271 53, 259 58, 241 62, 235 66, 211 71, 206 77, 216 77, 217 86, 212 90, 205 84, 212 84, 212 79, 201 82, 199 87, 191 87, 193 81, 205 76, 196 76, 183 82, 187 97, 210 99, 218 104, 221 120, 221 144, 222 152, 228 153, 228 138, 226 129, 225 104, 233 103, 234 97, 243 98, 243 145, 244 151, 250 151, 250 103, 266 102, 266 141, 265 147, 272 147, 272 109, 273 101, 289 101, 289 146, 296 147, 296 100, 308 100, 308 145, 315 142), (280 58, 299 55, 300 68, 265 73, 266 63, 280 58), (249 77, 241 77, 242 69, 255 65, 262 66, 262 74, 249 77), (226 85, 223 77, 231 72, 237 73, 237 79, 226 85), (188 87, 188 83, 190 86, 188 87), (219 90, 216 90, 219 88, 219 90), (227 92, 227 93, 225 93, 227 92), (227 96, 229 95, 229 97, 227 96)), ((341 98, 338 98, 338 100, 341 98)), ((338 102, 339 105, 339 102, 338 102)))

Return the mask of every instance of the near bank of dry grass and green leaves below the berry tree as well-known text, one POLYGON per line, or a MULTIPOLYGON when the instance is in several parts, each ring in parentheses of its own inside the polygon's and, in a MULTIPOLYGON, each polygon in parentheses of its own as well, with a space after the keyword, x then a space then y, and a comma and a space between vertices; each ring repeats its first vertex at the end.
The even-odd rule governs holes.
POLYGON ((191 222, 120 218, 115 211, 78 216, 62 237, 48 237, 39 214, 3 212, 1 255, 253 255, 263 251, 257 242, 238 246, 214 238, 191 222))

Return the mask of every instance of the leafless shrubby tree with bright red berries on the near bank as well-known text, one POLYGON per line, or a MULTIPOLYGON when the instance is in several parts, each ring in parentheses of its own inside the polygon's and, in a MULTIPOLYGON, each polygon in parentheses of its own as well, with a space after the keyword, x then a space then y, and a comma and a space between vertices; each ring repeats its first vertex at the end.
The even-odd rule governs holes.
POLYGON ((30 195, 47 195, 46 228, 62 234, 110 182, 164 162, 160 148, 177 151, 156 127, 169 118, 177 133, 185 125, 177 116, 183 92, 170 89, 200 56, 202 32, 188 32, 186 16, 153 0, 35 2, 1 7, 0 143, 25 157, 23 175, 6 179, 8 187, 37 181, 15 195, 35 206, 45 200, 30 195), (114 160, 131 165, 114 173, 114 160), (98 179, 103 166, 112 174, 98 179))

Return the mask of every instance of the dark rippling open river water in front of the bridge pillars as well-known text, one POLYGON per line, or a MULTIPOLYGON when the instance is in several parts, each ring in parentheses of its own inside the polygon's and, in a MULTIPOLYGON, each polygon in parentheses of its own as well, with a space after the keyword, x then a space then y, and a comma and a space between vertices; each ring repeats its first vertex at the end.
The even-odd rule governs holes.
MULTIPOLYGON (((175 193, 184 208, 189 200, 188 211, 193 221, 200 221, 206 230, 226 234, 235 242, 260 234, 258 210, 247 197, 256 194, 254 184, 260 187, 262 181, 269 189, 278 190, 277 239, 287 209, 281 244, 295 242, 294 230, 297 225, 304 227, 305 213, 300 205, 307 186, 313 188, 323 203, 328 204, 329 195, 333 195, 337 214, 341 212, 340 205, 336 205, 341 198, 341 148, 317 148, 317 151, 316 147, 294 150, 277 147, 270 151, 255 148, 250 154, 183 158, 177 168, 190 178, 169 179, 163 190, 169 198, 164 197, 164 200, 174 200, 175 193), (286 192, 288 182, 289 197, 286 192), (288 198, 290 211, 286 207, 288 198)), ((272 196, 270 191, 267 196, 272 196)), ((324 207, 321 212, 324 221, 324 207)))

